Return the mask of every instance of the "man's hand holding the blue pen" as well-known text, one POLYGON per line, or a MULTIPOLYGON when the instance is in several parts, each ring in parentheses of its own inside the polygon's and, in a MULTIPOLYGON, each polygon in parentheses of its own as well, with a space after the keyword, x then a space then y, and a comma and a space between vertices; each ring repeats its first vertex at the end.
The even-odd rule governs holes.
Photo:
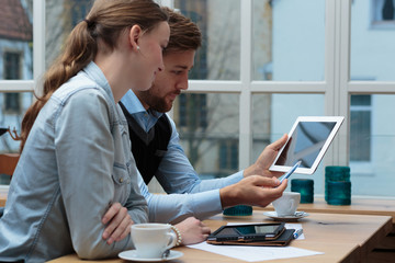
POLYGON ((282 196, 286 185, 286 179, 280 184, 275 176, 250 175, 236 184, 219 190, 222 207, 226 208, 235 205, 266 207, 282 196))

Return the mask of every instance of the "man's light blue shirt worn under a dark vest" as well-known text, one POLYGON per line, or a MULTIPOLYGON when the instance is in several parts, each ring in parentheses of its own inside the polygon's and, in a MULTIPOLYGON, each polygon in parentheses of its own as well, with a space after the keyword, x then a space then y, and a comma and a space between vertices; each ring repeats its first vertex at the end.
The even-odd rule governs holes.
MULTIPOLYGON (((147 112, 132 90, 121 101, 145 132, 154 127, 162 115, 151 110, 147 112)), ((142 175, 138 176, 142 194, 148 201, 149 221, 180 221, 188 216, 205 219, 222 213, 219 188, 239 182, 244 178, 244 171, 227 178, 201 180, 180 145, 174 122, 170 117, 169 121, 170 141, 155 174, 169 195, 149 193, 142 175)))

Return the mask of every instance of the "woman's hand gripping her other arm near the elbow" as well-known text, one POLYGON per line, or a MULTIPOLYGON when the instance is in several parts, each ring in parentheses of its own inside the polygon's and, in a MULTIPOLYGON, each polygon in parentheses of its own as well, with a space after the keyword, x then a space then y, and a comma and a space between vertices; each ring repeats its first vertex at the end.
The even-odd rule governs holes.
POLYGON ((131 226, 134 224, 127 209, 120 203, 111 205, 103 216, 102 222, 108 225, 102 236, 108 244, 126 238, 131 232, 131 226))

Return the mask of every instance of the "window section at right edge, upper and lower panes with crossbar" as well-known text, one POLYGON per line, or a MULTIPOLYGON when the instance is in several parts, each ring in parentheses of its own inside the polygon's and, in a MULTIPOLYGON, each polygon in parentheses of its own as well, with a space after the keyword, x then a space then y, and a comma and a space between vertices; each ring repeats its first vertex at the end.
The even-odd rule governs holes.
POLYGON ((394 111, 393 3, 354 0, 351 4, 350 81, 342 89, 350 98, 348 163, 353 195, 394 196, 390 186, 380 183, 394 180, 395 156, 391 149, 395 133, 385 117, 394 111), (373 22, 366 27, 370 12, 373 22))

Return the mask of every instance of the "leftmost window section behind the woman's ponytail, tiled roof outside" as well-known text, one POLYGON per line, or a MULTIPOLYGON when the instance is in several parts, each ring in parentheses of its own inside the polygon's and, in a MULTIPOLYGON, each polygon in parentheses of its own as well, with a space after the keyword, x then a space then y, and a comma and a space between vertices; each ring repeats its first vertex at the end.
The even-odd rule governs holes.
MULTIPOLYGON (((20 133, 33 101, 33 1, 3 1, 0 18, 0 127, 20 133)), ((16 151, 19 141, 2 135, 0 152, 16 151)))

